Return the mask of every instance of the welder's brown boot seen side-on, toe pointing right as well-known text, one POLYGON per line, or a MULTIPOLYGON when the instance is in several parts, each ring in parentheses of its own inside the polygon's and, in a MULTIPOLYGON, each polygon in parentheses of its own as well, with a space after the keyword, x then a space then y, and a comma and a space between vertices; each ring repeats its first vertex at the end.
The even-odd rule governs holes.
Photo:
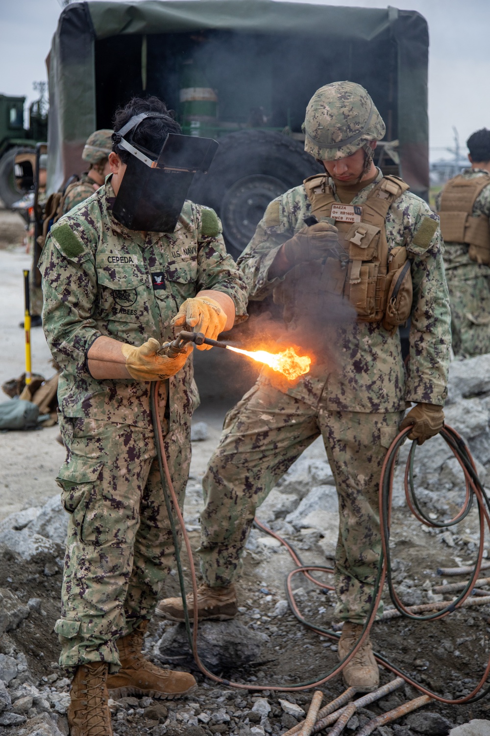
POLYGON ((171 700, 187 695, 196 687, 189 673, 162 670, 143 657, 143 634, 147 626, 148 622, 144 621, 131 634, 118 639, 120 670, 107 676, 107 690, 112 698, 137 695, 171 700))

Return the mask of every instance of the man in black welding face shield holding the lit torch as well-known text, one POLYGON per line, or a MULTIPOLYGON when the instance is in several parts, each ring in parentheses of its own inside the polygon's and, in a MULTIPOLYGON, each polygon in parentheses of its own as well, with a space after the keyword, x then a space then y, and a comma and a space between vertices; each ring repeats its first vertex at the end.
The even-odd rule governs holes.
POLYGON ((165 449, 183 504, 192 354, 188 347, 168 358, 159 347, 184 325, 215 339, 246 319, 245 281, 217 215, 185 200, 215 141, 181 136, 156 97, 117 110, 114 130, 112 174, 52 227, 40 260, 68 448, 57 476, 70 517, 55 630, 60 664, 73 676, 72 736, 112 733, 108 690, 172 698, 195 687, 192 675, 156 668, 141 654, 173 557, 149 393, 161 381, 165 449))

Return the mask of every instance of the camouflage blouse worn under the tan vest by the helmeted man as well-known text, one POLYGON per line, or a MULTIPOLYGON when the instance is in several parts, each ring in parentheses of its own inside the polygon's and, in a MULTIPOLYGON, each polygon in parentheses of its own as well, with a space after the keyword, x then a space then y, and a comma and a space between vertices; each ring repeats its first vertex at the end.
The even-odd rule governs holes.
MULTIPOLYGON (((375 180, 353 198, 352 204, 362 205, 381 178, 378 170, 375 180)), ((329 184, 334 185, 331 180, 329 184)), ((267 208, 238 261, 252 300, 263 300, 272 293, 279 280, 268 279, 270 265, 281 244, 304 227, 303 218, 311 214, 303 185, 273 202, 275 205, 271 203, 267 208)), ((328 364, 319 364, 297 386, 282 389, 284 392, 314 406, 339 411, 399 411, 407 401, 444 404, 450 359, 450 307, 441 232, 439 227, 434 230, 427 223, 424 226, 427 218, 438 222, 428 205, 410 191, 392 203, 386 216, 389 250, 404 245, 411 261, 414 300, 408 368, 403 365, 397 332, 392 336, 378 322, 356 321, 349 329, 338 330, 340 364, 337 360, 335 370, 329 369, 328 364), (426 232, 430 233, 430 240, 422 237, 426 232)), ((328 314, 324 319, 328 321, 328 314)))

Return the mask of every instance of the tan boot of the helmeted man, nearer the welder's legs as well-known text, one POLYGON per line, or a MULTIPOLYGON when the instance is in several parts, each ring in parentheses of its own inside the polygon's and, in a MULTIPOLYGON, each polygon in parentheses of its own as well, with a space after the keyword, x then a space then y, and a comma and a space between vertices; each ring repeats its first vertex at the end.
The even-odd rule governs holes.
MULTIPOLYGON (((194 612, 192 604, 194 596, 192 593, 186 595, 189 618, 192 621, 194 612)), ((234 618, 238 612, 237 592, 233 584, 225 588, 212 588, 203 584, 198 587, 198 612, 199 620, 226 621, 234 618)), ((171 621, 184 621, 184 606, 182 599, 165 598, 156 606, 155 613, 162 618, 170 618, 171 621)))

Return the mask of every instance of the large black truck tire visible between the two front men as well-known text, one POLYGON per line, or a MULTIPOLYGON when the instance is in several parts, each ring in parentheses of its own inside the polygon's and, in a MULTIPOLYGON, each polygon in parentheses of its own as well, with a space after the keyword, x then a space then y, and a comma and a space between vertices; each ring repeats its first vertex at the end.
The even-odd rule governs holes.
POLYGON ((208 173, 195 175, 188 196, 216 210, 228 252, 238 258, 269 202, 323 167, 283 133, 240 130, 219 141, 208 173))

